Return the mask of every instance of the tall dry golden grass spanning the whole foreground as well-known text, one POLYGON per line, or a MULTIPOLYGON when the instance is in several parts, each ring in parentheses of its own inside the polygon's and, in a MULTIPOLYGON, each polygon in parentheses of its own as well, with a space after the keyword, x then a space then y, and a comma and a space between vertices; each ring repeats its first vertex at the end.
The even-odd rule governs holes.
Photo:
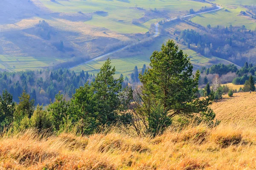
POLYGON ((156 138, 106 134, 0 138, 0 169, 244 170, 256 168, 256 128, 189 126, 156 138))

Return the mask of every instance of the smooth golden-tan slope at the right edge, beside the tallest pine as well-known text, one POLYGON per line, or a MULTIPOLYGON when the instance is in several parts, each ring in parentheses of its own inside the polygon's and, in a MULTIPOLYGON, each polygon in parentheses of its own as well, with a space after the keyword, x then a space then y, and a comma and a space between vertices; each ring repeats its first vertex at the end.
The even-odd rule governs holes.
POLYGON ((211 106, 216 118, 221 122, 242 124, 256 123, 256 94, 252 92, 235 93, 233 97, 224 96, 219 102, 211 106))

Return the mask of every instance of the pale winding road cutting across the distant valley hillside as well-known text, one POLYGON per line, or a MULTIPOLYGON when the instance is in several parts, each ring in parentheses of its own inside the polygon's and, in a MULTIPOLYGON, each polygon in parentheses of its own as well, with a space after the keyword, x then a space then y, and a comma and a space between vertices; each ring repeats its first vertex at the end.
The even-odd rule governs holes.
MULTIPOLYGON (((198 14, 206 14, 206 13, 209 13, 209 12, 218 11, 218 10, 220 10, 220 9, 222 9, 222 7, 217 5, 217 9, 213 9, 213 10, 211 10, 211 11, 204 11, 204 12, 198 12, 198 13, 195 13, 195 14, 183 15, 183 16, 181 16, 181 17, 170 18, 170 19, 168 19, 168 20, 169 20, 169 21, 173 21, 173 20, 177 20, 178 18, 191 17, 191 16, 195 16, 195 15, 198 15, 198 14)), ((154 33, 154 35, 153 35, 152 37, 157 37, 158 33, 159 33, 159 24, 156 23, 156 24, 155 24, 155 33, 154 33)), ((150 39, 150 38, 151 38, 151 37, 145 38, 144 40, 141 40, 141 41, 139 41, 139 42, 134 42, 134 43, 131 44, 131 45, 127 45, 127 46, 125 46, 125 47, 119 48, 119 49, 117 49, 117 50, 115 50, 115 51, 112 51, 112 52, 110 52, 110 53, 107 53, 107 54, 104 54, 104 55, 102 55, 102 56, 96 57, 96 58, 94 58, 94 59, 90 59, 90 60, 88 60, 88 61, 86 61, 86 62, 82 62, 82 63, 80 63, 80 64, 78 64, 78 65, 75 65, 75 66, 73 66, 73 67, 70 67, 70 68, 74 68, 74 67, 79 66, 79 65, 87 64, 88 62, 95 61, 96 59, 101 59, 101 58, 103 58, 103 57, 106 57, 106 56, 109 56, 109 55, 111 55, 111 54, 114 54, 114 53, 116 53, 116 52, 118 52, 118 51, 121 51, 121 50, 123 50, 123 49, 125 49, 125 48, 131 47, 131 46, 133 46, 133 45, 140 44, 141 42, 145 42, 145 41, 147 41, 147 40, 150 39)))

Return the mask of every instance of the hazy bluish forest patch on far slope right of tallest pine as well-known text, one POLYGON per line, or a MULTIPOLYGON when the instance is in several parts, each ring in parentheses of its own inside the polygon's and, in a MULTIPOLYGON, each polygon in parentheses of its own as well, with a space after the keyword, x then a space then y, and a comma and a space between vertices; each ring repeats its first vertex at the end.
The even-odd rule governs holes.
MULTIPOLYGON (((178 33, 178 32, 176 32, 178 33)), ((227 59, 237 65, 256 63, 256 31, 245 26, 201 27, 201 31, 185 29, 176 40, 206 57, 227 59)))

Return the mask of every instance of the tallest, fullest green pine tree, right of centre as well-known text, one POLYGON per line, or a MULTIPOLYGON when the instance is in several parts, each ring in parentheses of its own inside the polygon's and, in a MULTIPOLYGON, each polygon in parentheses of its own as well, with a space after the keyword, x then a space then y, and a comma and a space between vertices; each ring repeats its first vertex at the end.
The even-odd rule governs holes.
POLYGON ((195 95, 200 73, 192 74, 191 62, 182 50, 178 51, 173 40, 163 45, 160 52, 154 51, 150 61, 151 68, 140 74, 143 102, 139 102, 137 109, 137 114, 146 117, 144 125, 148 132, 162 132, 176 115, 207 111, 209 98, 200 100, 195 95))

